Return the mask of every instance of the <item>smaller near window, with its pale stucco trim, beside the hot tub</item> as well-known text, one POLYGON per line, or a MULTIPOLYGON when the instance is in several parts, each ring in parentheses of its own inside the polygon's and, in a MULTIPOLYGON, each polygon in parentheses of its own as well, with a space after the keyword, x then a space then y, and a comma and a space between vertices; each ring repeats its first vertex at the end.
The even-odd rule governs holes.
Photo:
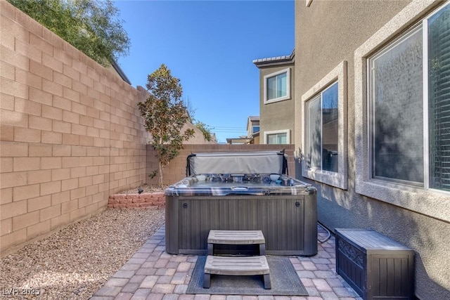
POLYGON ((302 176, 347 189, 347 62, 302 95, 302 176))

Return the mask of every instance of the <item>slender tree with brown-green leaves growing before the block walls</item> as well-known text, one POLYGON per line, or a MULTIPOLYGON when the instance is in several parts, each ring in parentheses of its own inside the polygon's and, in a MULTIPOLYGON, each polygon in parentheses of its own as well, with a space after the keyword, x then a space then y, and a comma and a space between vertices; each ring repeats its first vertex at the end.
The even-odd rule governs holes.
POLYGON ((139 102, 138 107, 146 130, 152 136, 151 145, 158 157, 162 186, 162 170, 179 155, 183 142, 188 141, 194 131, 181 132, 189 119, 186 105, 181 100, 183 89, 180 80, 173 77, 164 64, 148 75, 146 86, 150 95, 145 102, 139 102))

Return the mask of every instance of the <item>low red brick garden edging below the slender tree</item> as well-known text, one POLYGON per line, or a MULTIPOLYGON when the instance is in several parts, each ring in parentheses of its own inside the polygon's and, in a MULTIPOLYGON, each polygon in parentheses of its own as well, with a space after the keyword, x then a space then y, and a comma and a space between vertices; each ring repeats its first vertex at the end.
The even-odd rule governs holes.
POLYGON ((127 208, 160 208, 165 207, 164 193, 116 194, 110 195, 108 207, 114 209, 127 208))

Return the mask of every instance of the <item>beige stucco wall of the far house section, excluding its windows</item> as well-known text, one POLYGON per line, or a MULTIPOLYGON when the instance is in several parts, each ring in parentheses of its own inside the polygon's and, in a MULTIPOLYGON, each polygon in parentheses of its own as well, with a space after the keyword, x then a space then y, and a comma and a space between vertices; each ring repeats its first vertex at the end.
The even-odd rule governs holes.
POLYGON ((294 141, 294 81, 295 67, 293 63, 274 66, 261 67, 259 69, 259 143, 264 143, 264 132, 290 130, 290 141, 294 141), (274 103, 264 103, 264 76, 290 67, 290 99, 274 103))

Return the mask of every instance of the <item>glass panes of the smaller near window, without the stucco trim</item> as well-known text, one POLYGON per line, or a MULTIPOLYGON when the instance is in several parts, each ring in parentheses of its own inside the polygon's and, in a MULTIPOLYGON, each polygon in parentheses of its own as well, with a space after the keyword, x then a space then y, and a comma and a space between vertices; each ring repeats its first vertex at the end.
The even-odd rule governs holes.
POLYGON ((338 82, 307 102, 307 167, 338 172, 338 82))

